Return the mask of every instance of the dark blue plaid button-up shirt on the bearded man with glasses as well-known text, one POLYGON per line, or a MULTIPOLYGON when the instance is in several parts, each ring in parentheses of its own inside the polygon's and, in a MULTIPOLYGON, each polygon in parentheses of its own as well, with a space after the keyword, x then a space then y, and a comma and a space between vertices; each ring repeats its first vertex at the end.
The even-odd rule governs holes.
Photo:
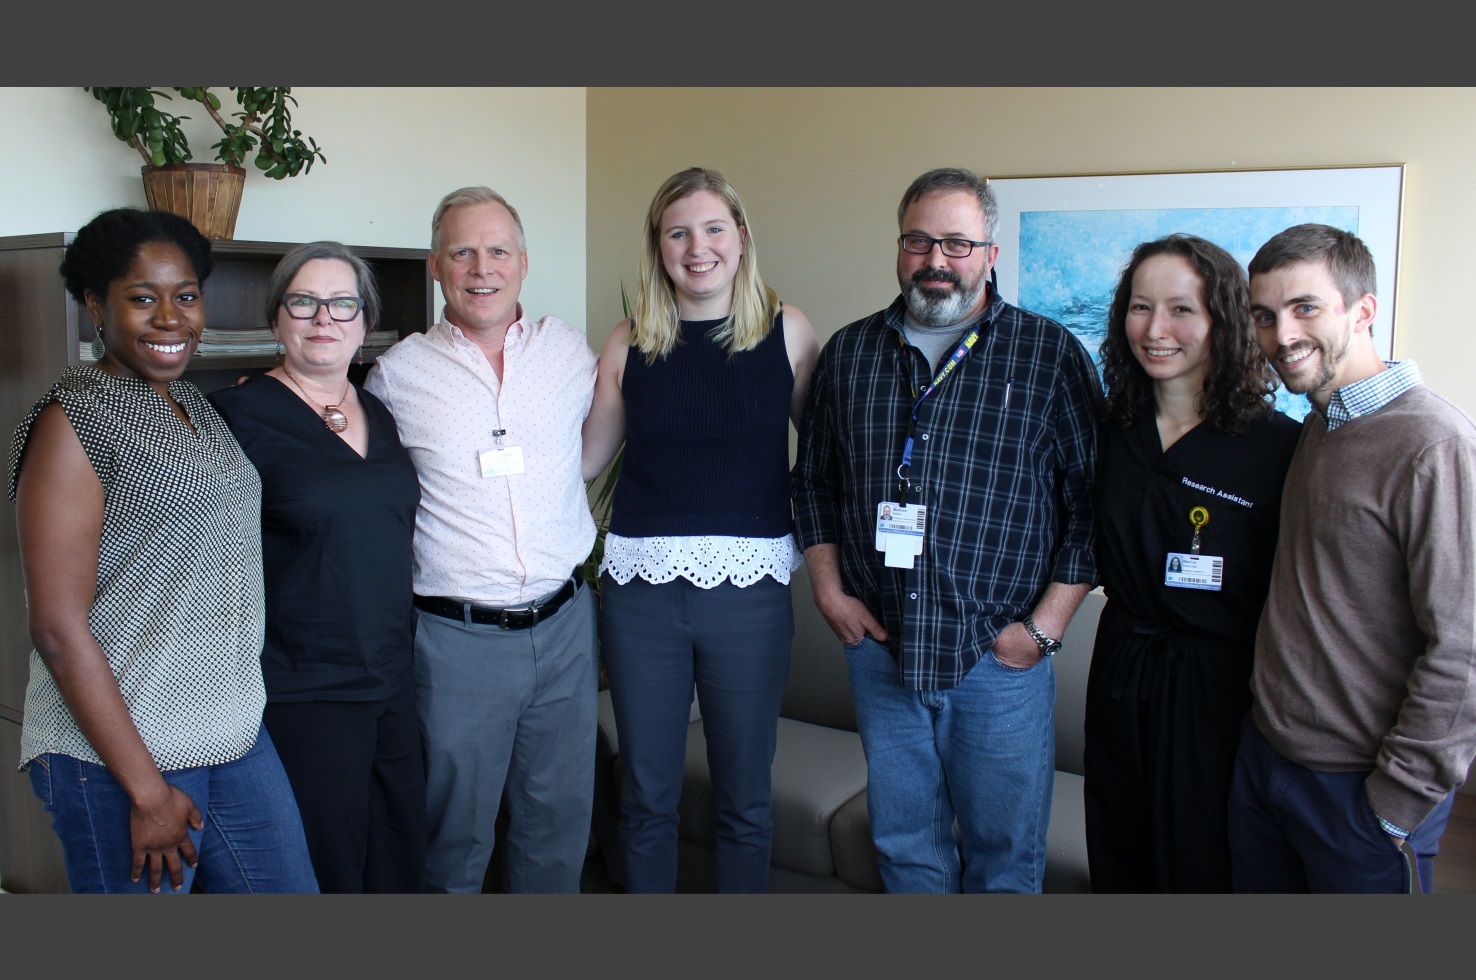
POLYGON ((971 354, 918 412, 908 503, 927 506, 922 555, 889 568, 877 505, 933 372, 899 344, 903 300, 827 341, 794 466, 800 548, 840 546, 841 583, 887 629, 900 683, 956 686, 1051 582, 1091 583, 1101 385, 1064 326, 990 289, 971 354))

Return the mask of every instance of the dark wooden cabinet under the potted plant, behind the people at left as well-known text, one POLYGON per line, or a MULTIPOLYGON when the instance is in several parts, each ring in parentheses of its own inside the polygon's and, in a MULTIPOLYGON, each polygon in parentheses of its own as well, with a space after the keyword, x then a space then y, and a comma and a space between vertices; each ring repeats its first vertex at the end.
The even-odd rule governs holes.
MULTIPOLYGON (((15 427, 68 365, 81 363, 92 341, 92 317, 66 295, 59 267, 74 233, 0 238, 0 432, 9 447, 15 427)), ((264 329, 267 283, 294 242, 211 242, 215 266, 205 280, 207 331, 264 329)), ((406 337, 430 326, 434 286, 427 251, 351 246, 375 270, 384 313, 376 331, 406 337)), ((366 351, 362 379, 373 353, 366 351)), ((275 363, 272 353, 207 357, 196 354, 186 378, 205 391, 233 384, 275 363)), ((50 818, 16 773, 21 708, 31 652, 24 577, 16 548, 15 506, 0 505, 0 887, 7 891, 66 891, 61 847, 50 818)))

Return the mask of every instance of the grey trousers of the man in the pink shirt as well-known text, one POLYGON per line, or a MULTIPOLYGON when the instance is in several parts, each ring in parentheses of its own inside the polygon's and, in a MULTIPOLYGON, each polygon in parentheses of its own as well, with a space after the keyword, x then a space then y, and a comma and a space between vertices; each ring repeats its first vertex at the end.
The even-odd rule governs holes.
POLYGON ((478 893, 508 806, 511 891, 577 893, 595 806, 595 599, 531 629, 419 612, 425 890, 478 893))

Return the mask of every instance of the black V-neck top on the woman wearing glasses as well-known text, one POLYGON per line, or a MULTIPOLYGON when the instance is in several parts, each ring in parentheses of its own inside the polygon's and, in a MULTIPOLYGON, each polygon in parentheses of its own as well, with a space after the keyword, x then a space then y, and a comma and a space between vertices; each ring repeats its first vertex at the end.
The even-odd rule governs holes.
POLYGON ((357 388, 365 458, 270 375, 210 394, 261 474, 269 701, 370 701, 412 683, 421 486, 390 410, 357 388))

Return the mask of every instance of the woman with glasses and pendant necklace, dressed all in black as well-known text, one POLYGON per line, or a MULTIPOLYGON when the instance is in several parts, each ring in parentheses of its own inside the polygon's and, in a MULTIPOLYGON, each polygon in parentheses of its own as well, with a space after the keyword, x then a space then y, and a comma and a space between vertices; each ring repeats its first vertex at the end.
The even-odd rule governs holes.
POLYGON ((263 716, 325 893, 419 891, 425 770, 410 539, 419 483, 394 419, 348 379, 379 316, 368 263, 298 245, 272 273, 282 363, 210 400, 261 474, 263 716))

